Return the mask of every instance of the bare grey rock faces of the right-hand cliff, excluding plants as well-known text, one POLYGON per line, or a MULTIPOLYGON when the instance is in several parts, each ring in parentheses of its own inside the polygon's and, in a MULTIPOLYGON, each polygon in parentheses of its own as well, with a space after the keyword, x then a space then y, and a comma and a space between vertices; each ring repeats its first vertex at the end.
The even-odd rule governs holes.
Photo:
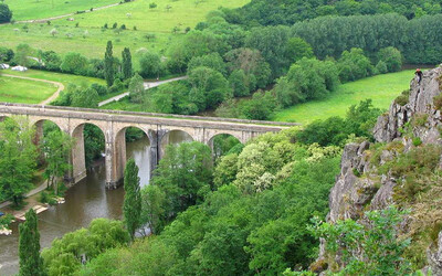
MULTIPOLYGON (((398 181, 390 173, 379 174, 376 167, 392 160, 398 155, 398 148, 407 152, 413 148, 413 144, 442 145, 441 112, 434 105, 434 97, 441 94, 441 76, 442 67, 436 67, 424 72, 421 83, 412 79, 408 103, 400 105, 394 100, 388 113, 378 118, 373 128, 376 141, 392 146, 378 152, 376 163, 370 149, 373 145, 364 141, 345 147, 340 174, 329 195, 328 222, 358 220, 366 210, 385 209, 393 203, 398 181)), ((323 241, 319 252, 319 259, 324 259, 326 252, 323 241)), ((438 244, 431 245, 427 255, 433 274, 442 275, 442 232, 438 244)))

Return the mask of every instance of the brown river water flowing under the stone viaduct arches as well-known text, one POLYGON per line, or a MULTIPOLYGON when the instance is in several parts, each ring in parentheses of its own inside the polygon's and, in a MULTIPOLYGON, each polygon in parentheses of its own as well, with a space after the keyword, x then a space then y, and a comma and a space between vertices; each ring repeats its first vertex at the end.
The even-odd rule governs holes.
MULTIPOLYGON (((171 131, 169 144, 189 140, 189 136, 181 131, 171 131)), ((164 148, 165 145, 161 145, 164 148)), ((149 140, 128 142, 127 158, 134 158, 139 168, 141 187, 149 183, 149 140)), ((39 214, 40 243, 42 248, 51 246, 55 237, 61 237, 67 232, 86 227, 96 217, 122 219, 124 190, 105 189, 105 167, 101 162, 87 171, 87 177, 66 191, 64 204, 50 206, 48 211, 39 214)), ((0 235, 0 275, 13 275, 19 270, 18 223, 11 225, 12 235, 0 235)))

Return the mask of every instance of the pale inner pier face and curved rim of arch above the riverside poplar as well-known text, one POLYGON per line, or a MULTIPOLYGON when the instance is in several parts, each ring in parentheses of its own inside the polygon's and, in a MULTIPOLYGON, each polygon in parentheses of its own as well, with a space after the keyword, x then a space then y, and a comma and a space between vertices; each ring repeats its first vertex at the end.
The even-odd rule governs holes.
MULTIPOLYGON (((136 126, 136 125, 128 125, 125 127, 119 128, 116 131, 116 135, 114 137, 115 141, 115 148, 114 148, 114 168, 115 168, 115 173, 117 176, 117 180, 123 179, 124 177, 124 169, 126 167, 126 161, 127 161, 127 153, 126 153, 126 130, 129 128, 136 128, 139 129, 144 132, 144 135, 147 137, 149 140, 149 145, 151 144, 151 136, 149 135, 149 130, 146 131, 146 129, 136 126)), ((139 168, 141 169, 141 168, 139 168)))

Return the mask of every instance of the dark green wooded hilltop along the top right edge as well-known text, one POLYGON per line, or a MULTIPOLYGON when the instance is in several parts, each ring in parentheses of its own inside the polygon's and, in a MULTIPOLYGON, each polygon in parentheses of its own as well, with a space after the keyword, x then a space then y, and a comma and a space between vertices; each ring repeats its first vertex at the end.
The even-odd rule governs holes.
POLYGON ((397 13, 407 19, 441 13, 440 0, 252 0, 249 4, 225 9, 230 23, 248 26, 292 25, 324 15, 372 15, 397 13))

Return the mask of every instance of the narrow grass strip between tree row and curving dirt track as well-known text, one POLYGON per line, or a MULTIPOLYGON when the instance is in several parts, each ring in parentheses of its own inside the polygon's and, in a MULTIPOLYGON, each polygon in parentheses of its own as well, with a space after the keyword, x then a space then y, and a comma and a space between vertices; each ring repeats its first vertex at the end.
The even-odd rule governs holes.
MULTIPOLYGON (((69 84, 75 84, 78 86, 90 86, 93 83, 98 83, 105 85, 105 81, 96 77, 87 77, 87 76, 76 76, 70 74, 62 74, 55 72, 48 71, 39 71, 39 70, 28 70, 27 72, 17 72, 17 71, 3 71, 4 74, 15 75, 15 76, 25 76, 33 77, 39 79, 48 79, 52 82, 59 82, 67 87, 69 84)), ((15 78, 18 79, 18 78, 15 78)))

